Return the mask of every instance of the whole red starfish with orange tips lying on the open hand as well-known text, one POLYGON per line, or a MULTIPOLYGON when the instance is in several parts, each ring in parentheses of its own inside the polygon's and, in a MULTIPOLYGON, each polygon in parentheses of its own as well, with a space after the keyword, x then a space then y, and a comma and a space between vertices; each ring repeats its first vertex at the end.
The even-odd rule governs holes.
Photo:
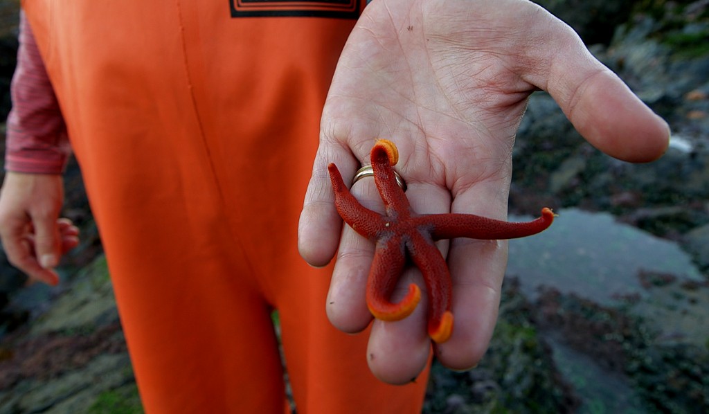
POLYGON ((428 289, 428 335, 435 342, 445 342, 453 330, 452 284, 445 259, 434 242, 454 237, 498 240, 534 235, 552 224, 554 213, 543 208, 540 218, 525 223, 473 214, 417 214, 396 184, 393 170, 398 161, 396 145, 389 140, 377 140, 371 157, 374 181, 384 201, 384 215, 362 206, 345 186, 335 164, 328 165, 337 212, 357 233, 376 240, 367 279, 367 307, 380 320, 401 320, 413 312, 421 298, 416 284, 409 285, 406 297, 398 303, 389 300, 408 252, 428 289))

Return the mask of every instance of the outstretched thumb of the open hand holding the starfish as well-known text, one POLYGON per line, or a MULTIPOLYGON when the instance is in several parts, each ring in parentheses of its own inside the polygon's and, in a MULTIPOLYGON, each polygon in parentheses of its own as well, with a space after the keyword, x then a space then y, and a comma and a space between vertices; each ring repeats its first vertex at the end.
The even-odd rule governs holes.
POLYGON ((557 35, 545 48, 542 60, 549 69, 532 83, 549 91, 576 130, 599 150, 630 162, 660 157, 669 145, 667 123, 598 62, 573 30, 564 27, 557 33, 566 36, 557 35))

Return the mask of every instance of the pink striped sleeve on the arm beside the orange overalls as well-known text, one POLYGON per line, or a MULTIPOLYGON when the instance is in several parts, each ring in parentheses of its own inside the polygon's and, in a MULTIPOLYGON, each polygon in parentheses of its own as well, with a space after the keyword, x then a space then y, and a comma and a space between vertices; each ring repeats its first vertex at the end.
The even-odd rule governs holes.
POLYGON ((57 97, 24 13, 7 119, 5 169, 61 174, 71 152, 57 97))

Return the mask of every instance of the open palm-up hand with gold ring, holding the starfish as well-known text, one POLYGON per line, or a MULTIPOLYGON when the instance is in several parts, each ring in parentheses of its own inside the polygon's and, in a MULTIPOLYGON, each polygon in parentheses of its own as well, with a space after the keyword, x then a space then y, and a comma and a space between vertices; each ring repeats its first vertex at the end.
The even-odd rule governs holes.
MULTIPOLYGON (((530 1, 375 0, 367 6, 330 87, 298 229, 308 263, 322 266, 337 252, 327 305, 335 327, 359 332, 372 320, 364 291, 374 244, 341 227, 328 164, 348 182, 369 163, 375 138, 393 140, 396 169, 415 211, 504 220, 515 133, 527 97, 539 89, 608 155, 647 162, 668 145, 666 123, 571 28, 530 1)), ((381 209, 373 180, 359 181, 352 193, 381 209)), ((447 367, 469 369, 493 332, 507 244, 455 239, 440 248, 452 277, 455 326, 435 352, 447 367)), ((410 270, 392 301, 411 280, 423 289, 410 270)), ((425 367, 431 346, 425 301, 423 293, 404 320, 374 321, 367 357, 379 379, 401 384, 425 367)))

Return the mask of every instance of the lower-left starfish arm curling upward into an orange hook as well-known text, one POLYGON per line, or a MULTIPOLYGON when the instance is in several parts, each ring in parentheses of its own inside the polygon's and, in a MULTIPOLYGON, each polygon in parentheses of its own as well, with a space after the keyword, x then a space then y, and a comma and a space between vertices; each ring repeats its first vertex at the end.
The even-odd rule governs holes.
POLYGON ((406 264, 401 237, 390 237, 378 242, 372 268, 367 279, 367 307, 380 320, 401 320, 411 315, 421 299, 421 290, 416 284, 408 286, 408 293, 398 303, 391 303, 391 293, 406 264))

